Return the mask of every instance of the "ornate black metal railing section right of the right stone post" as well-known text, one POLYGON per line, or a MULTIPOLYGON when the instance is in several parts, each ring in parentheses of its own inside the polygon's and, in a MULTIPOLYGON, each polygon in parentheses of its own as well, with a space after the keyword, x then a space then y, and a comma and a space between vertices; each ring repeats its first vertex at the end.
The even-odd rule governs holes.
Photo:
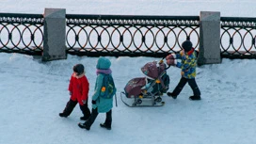
POLYGON ((221 17, 221 56, 256 58, 256 18, 221 17))

